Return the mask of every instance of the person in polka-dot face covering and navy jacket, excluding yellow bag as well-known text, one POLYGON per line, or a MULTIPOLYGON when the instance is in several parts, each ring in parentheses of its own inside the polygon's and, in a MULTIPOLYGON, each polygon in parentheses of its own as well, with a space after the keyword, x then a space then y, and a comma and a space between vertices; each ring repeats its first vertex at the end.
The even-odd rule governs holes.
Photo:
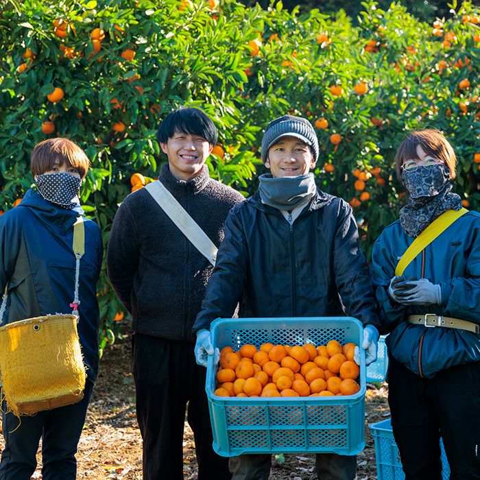
POLYGON ((13 413, 2 414, 5 448, 0 479, 32 477, 40 437, 43 478, 76 477, 75 453, 99 363, 96 285, 103 247, 100 229, 89 219, 84 219, 85 251, 78 296, 74 295, 73 224, 83 215, 79 192, 89 164, 83 150, 67 139, 38 143, 31 163, 35 187, 0 217, 0 289, 3 292, 8 287, 6 308, 0 309, 1 323, 77 311, 87 374, 84 396, 78 403, 22 416, 20 425, 13 413))

